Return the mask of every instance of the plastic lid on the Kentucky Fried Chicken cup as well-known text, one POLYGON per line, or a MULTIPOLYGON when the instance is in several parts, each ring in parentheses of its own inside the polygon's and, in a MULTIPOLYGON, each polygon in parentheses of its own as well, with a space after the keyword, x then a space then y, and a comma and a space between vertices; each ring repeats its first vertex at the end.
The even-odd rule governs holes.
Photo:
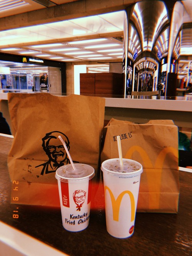
POLYGON ((71 164, 63 165, 56 170, 56 179, 60 179, 63 182, 68 182, 68 180, 84 180, 88 178, 91 180, 94 177, 94 168, 90 165, 75 163, 75 170, 71 164))

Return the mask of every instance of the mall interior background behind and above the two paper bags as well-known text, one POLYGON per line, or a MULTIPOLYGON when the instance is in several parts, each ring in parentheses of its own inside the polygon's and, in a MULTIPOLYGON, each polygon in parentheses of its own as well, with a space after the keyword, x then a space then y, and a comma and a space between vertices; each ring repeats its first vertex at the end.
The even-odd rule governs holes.
POLYGON ((8 93, 81 94, 106 99, 107 121, 170 119, 191 143, 191 0, 5 1, 0 38, 7 133, 8 93))

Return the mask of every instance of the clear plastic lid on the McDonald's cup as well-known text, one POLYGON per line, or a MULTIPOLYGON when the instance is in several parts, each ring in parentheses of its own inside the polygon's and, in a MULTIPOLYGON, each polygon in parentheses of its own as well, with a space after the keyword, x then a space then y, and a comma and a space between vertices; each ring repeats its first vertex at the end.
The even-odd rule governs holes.
POLYGON ((123 165, 120 165, 119 158, 112 158, 104 161, 101 165, 102 171, 107 171, 114 176, 137 176, 142 173, 142 165, 134 160, 123 158, 123 165))

